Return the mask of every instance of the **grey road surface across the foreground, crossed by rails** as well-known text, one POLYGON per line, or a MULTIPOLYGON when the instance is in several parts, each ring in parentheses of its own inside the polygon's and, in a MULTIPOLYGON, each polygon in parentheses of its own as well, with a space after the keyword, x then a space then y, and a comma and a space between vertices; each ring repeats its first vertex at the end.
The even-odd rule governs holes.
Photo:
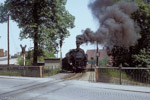
POLYGON ((0 100, 150 100, 149 87, 57 78, 0 77, 0 100))

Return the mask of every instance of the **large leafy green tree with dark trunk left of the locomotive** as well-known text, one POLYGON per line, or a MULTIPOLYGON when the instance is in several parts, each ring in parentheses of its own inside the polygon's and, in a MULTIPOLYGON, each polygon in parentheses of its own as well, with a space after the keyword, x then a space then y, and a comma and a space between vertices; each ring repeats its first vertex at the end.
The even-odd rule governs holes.
POLYGON ((68 28, 74 27, 74 17, 65 9, 66 0, 6 0, 0 5, 0 22, 8 15, 22 29, 21 39, 34 42, 33 64, 43 49, 55 52, 58 38, 69 36, 68 28))

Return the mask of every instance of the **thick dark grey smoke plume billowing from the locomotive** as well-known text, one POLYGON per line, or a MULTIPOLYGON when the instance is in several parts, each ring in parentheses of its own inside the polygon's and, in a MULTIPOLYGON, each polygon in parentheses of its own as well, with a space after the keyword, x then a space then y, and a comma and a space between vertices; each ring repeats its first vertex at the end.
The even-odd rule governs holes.
POLYGON ((76 37, 78 43, 103 44, 106 47, 113 46, 130 47, 140 38, 140 29, 131 19, 131 14, 138 10, 135 2, 121 1, 117 4, 115 0, 92 0, 89 8, 99 23, 96 32, 87 28, 82 35, 76 37))

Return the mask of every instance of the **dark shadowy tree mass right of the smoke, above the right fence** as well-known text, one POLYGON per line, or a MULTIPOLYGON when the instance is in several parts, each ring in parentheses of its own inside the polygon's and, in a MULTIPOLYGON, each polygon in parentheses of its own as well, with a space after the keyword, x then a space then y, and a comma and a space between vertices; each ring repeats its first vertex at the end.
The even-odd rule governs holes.
POLYGON ((146 64, 146 62, 149 60, 147 55, 149 55, 150 50, 150 3, 143 0, 136 1, 139 9, 133 13, 132 19, 134 19, 141 29, 141 38, 135 46, 128 49, 122 47, 114 47, 112 49, 112 55, 115 58, 115 66, 118 66, 120 63, 122 63, 123 66, 139 66, 142 64, 142 67, 147 67, 149 65, 149 63, 146 64))

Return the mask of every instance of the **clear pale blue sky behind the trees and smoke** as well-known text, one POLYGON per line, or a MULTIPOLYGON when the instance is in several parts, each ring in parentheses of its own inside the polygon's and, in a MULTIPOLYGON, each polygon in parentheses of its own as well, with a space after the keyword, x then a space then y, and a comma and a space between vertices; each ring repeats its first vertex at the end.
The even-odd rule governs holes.
MULTIPOLYGON (((0 0, 3 3, 5 0, 0 0)), ((75 27, 69 29, 70 36, 64 40, 62 46, 62 56, 71 50, 76 48, 76 36, 82 34, 82 30, 86 28, 91 28, 95 31, 98 24, 90 9, 88 8, 89 0, 67 0, 66 9, 75 16, 75 27)), ((33 42, 30 39, 19 39, 19 33, 21 29, 18 28, 17 23, 10 20, 10 54, 13 55, 21 51, 20 44, 27 45, 28 50, 33 47, 33 42)), ((0 49, 7 50, 7 23, 0 24, 0 49)), ((89 49, 96 49, 96 45, 93 44, 83 44, 80 46, 84 51, 89 49)), ((101 46, 99 46, 101 48, 101 46)), ((60 54, 58 54, 59 57, 60 54)), ((57 56, 57 55, 56 55, 57 56)))

